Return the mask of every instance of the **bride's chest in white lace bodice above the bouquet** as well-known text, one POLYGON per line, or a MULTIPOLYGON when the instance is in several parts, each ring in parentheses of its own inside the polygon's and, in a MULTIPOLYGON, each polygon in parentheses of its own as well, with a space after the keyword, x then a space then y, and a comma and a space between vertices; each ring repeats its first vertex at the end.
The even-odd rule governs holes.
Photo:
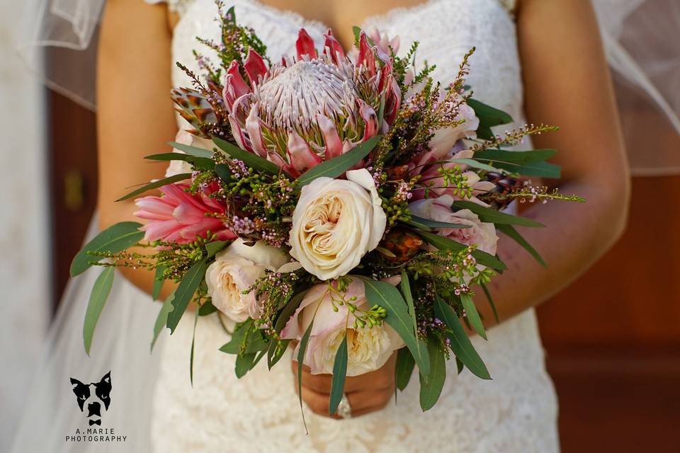
MULTIPOLYGON (((399 4, 413 4, 409 1, 412 0, 402 0, 399 4)), ((358 25, 367 30, 378 28, 390 38, 399 35, 399 54, 407 52, 412 42, 419 42, 416 64, 436 64, 433 76, 445 82, 455 77, 463 55, 476 47, 468 78, 468 84, 475 89, 475 97, 492 101, 509 113, 519 115, 521 79, 515 25, 503 1, 426 0, 416 6, 392 8, 385 14, 369 16, 358 25)), ((271 59, 295 54, 295 38, 300 28, 307 30, 318 47, 328 28, 321 21, 310 21, 300 13, 259 1, 225 1, 225 6, 230 5, 234 6, 237 21, 253 28, 267 45, 271 59)), ((196 37, 220 41, 220 30, 215 22, 217 7, 214 0, 184 0, 183 9, 174 30, 173 57, 194 69, 193 50, 210 56, 205 46, 196 42, 196 37)), ((333 14, 339 17, 337 11, 333 14)), ((347 15, 352 16, 349 12, 347 15)), ((174 71, 175 84, 187 82, 181 71, 174 71)))

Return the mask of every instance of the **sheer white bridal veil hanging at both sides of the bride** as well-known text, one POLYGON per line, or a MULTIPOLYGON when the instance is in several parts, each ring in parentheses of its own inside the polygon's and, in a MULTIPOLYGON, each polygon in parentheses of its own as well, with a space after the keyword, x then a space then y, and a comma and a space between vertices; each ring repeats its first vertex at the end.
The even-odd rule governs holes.
MULTIPOLYGON (((92 51, 96 47, 93 37, 103 3, 104 0, 35 0, 29 21, 33 25, 26 28, 30 33, 21 41, 21 52, 52 88, 89 108, 95 107, 94 82, 91 80, 95 61, 92 51), (42 47, 57 47, 67 52, 85 51, 83 54, 89 55, 89 59, 81 59, 79 69, 60 64, 55 59, 43 64, 40 53, 36 53, 42 47)), ((659 49, 655 42, 664 41, 659 41, 661 38, 654 33, 658 23, 655 21, 663 18, 664 27, 677 37, 680 30, 678 4, 673 0, 595 0, 594 4, 601 18, 604 43, 613 69, 623 76, 635 96, 650 101, 657 112, 663 113, 659 117, 680 132, 680 87, 673 86, 680 80, 678 50, 669 49, 673 47, 669 45, 659 49), (658 5, 664 6, 659 8, 658 5), (635 33, 639 33, 638 38, 635 33), (651 36, 654 39, 647 38, 651 36), (673 51, 675 55, 672 55, 673 51)), ((640 155, 637 165, 641 171, 680 173, 680 165, 674 167, 670 160, 680 161, 679 150, 670 155, 654 156, 655 159, 651 159, 650 149, 644 151, 633 150, 633 154, 640 155)), ((90 237, 96 232, 96 221, 92 225, 90 237)), ((88 357, 83 349, 82 321, 97 274, 96 270, 89 270, 69 282, 52 324, 42 367, 35 377, 12 452, 152 451, 149 437, 152 398, 159 375, 159 357, 168 346, 162 335, 154 353, 149 353, 152 326, 160 306, 117 275, 88 357), (79 410, 69 378, 95 382, 108 371, 111 371, 113 382, 112 403, 108 413, 103 415, 103 422, 115 429, 115 435, 126 436, 127 440, 101 443, 65 440, 66 436, 74 435, 76 427, 86 427, 85 414, 79 410)), ((535 322, 532 320, 527 322, 535 322)), ((188 365, 188 349, 186 362, 188 365)), ((223 372, 232 371, 224 369, 223 372)), ((504 378, 499 376, 497 379, 504 378)), ((172 397, 166 395, 166 398, 172 397)), ((185 422, 189 427, 196 424, 191 420, 185 422)), ((166 429, 171 431, 173 427, 166 429)))

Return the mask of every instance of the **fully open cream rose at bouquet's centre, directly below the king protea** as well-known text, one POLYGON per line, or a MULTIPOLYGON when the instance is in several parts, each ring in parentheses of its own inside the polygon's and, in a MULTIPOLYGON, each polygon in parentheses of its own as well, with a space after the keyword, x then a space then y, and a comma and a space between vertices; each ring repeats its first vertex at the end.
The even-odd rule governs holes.
POLYGON ((290 255, 321 280, 346 275, 378 246, 387 217, 368 170, 347 180, 317 178, 302 188, 290 229, 290 255))

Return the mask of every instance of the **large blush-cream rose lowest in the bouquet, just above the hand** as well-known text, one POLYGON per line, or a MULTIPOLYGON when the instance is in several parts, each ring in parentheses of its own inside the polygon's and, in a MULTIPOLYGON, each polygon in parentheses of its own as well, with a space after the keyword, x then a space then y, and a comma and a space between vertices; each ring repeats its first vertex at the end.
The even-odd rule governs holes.
MULTIPOLYGON (((368 301, 363 281, 353 277, 345 297, 356 297, 353 304, 358 309, 368 310, 368 301)), ((403 340, 387 323, 382 326, 351 328, 354 315, 346 306, 333 310, 328 284, 311 287, 305 294, 295 314, 281 331, 282 338, 300 340, 314 319, 305 352, 305 365, 312 374, 332 374, 335 355, 347 334, 347 376, 358 376, 375 371, 385 365, 392 352, 404 346, 403 340), (349 328, 347 328, 349 326, 349 328)), ((300 348, 300 345, 297 345, 300 348)), ((297 350, 296 350, 297 351, 297 350)), ((297 357, 297 352, 295 352, 297 357)))

